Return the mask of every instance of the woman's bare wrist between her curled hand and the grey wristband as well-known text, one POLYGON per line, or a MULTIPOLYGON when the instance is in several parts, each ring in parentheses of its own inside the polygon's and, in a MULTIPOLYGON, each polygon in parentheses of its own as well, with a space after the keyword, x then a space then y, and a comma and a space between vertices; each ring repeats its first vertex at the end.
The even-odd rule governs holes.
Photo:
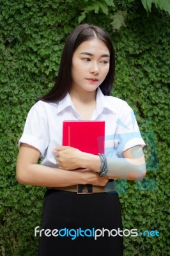
POLYGON ((99 156, 83 152, 81 164, 82 168, 88 168, 89 170, 93 170, 98 173, 100 172, 101 162, 99 156))

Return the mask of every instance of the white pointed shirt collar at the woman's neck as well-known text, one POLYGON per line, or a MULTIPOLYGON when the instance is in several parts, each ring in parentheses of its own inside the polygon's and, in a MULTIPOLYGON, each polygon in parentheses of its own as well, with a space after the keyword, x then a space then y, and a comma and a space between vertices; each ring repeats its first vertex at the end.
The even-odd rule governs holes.
MULTIPOLYGON (((98 115, 100 115, 100 113, 102 113, 102 111, 106 108, 109 109, 110 111, 117 113, 116 109, 114 109, 114 106, 112 106, 111 102, 109 101, 109 99, 107 98, 108 96, 105 96, 101 89, 98 87, 97 88, 97 106, 96 106, 96 111, 98 113, 98 115)), ((72 99, 70 97, 70 94, 67 93, 66 96, 62 99, 59 100, 58 102, 58 113, 63 111, 64 109, 68 108, 69 106, 71 106, 73 109, 73 102, 72 99)))

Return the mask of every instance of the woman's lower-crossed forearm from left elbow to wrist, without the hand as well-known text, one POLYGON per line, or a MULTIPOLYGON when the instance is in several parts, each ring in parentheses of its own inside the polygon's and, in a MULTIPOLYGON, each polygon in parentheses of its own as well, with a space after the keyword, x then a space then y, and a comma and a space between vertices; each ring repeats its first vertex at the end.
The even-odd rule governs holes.
POLYGON ((62 187, 75 184, 86 184, 83 173, 80 171, 66 171, 50 168, 40 164, 29 164, 17 169, 17 180, 21 184, 35 186, 62 187))

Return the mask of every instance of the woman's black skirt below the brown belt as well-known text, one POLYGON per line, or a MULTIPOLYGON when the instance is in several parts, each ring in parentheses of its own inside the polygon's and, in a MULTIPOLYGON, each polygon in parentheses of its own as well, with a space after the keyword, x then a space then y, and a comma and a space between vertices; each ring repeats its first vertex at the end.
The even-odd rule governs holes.
POLYGON ((38 256, 122 256, 118 228, 123 230, 118 193, 47 189, 38 256))

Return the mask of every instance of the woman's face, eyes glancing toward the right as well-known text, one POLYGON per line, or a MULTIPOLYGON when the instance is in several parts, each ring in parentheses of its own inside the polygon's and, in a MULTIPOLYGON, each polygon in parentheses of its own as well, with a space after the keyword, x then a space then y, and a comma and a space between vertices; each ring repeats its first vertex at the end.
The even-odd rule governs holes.
POLYGON ((73 53, 72 90, 96 90, 109 72, 109 56, 109 49, 101 40, 82 42, 73 53))

